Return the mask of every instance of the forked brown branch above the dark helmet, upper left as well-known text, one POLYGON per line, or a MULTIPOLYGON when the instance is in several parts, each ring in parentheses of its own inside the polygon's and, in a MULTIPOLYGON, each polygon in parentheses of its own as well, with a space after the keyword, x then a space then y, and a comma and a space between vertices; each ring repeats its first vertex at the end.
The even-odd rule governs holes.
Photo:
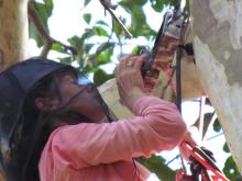
POLYGON ((65 49, 69 49, 72 52, 73 56, 77 55, 77 49, 75 47, 66 45, 66 44, 50 36, 43 22, 41 21, 40 16, 37 15, 37 11, 35 10, 32 1, 29 1, 29 4, 28 4, 28 15, 29 15, 30 20, 34 23, 38 33, 44 38, 45 44, 44 44, 44 47, 41 53, 42 57, 47 57, 50 50, 52 49, 53 44, 55 44, 55 43, 62 45, 65 49))

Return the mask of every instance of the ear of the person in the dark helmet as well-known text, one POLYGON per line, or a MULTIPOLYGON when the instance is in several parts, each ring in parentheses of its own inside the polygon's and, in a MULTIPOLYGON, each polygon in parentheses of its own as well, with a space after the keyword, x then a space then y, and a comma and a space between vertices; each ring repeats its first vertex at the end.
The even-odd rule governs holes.
POLYGON ((58 101, 56 99, 36 98, 35 105, 42 111, 53 111, 57 108, 58 101))

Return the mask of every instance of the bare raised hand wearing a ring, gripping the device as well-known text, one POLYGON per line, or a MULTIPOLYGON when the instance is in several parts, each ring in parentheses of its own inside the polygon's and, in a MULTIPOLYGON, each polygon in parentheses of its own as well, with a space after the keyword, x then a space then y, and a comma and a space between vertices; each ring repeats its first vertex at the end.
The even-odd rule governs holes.
POLYGON ((132 108, 133 103, 144 95, 144 82, 141 67, 146 56, 130 54, 121 59, 116 70, 117 84, 122 104, 132 108))

